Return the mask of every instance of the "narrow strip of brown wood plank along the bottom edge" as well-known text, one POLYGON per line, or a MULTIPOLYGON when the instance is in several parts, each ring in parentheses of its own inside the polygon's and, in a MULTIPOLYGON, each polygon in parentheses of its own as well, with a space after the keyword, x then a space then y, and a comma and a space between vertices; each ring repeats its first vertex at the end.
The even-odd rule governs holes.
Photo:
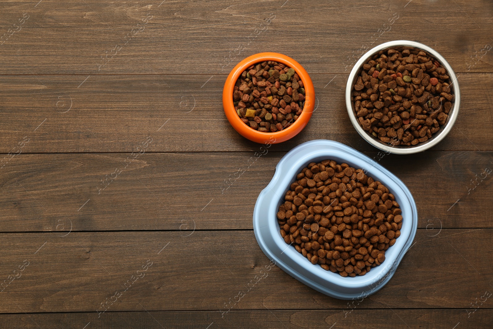
MULTIPOLYGON (((145 304, 137 304, 142 310, 145 304)), ((472 312, 469 311, 469 312, 472 312)), ((460 328, 490 329, 491 309, 478 309, 470 317, 463 309, 353 310, 345 318, 340 310, 230 311, 225 317, 209 311, 2 314, 6 328, 460 328), (210 327, 207 327, 210 326, 210 327), (408 327, 409 326, 409 327, 408 327)))

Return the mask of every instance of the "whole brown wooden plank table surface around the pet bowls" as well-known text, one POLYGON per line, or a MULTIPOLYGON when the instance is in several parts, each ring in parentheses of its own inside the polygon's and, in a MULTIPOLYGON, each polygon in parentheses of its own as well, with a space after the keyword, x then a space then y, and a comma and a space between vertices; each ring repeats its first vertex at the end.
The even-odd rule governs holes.
POLYGON ((493 327, 491 1, 0 8, 0 327, 493 327), (416 200, 415 244, 360 303, 276 266, 248 291, 269 264, 253 206, 286 151, 330 139, 377 154, 352 127, 344 91, 361 49, 394 39, 440 52, 462 96, 440 144, 380 160, 416 200), (298 136, 250 164, 260 145, 230 126, 222 86, 263 51, 305 67, 317 110, 298 136))

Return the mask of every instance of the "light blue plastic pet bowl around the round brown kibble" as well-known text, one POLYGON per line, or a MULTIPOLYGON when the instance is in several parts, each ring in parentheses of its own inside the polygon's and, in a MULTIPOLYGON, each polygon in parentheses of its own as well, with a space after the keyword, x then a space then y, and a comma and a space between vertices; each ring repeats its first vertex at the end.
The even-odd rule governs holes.
POLYGON ((276 173, 260 192, 253 211, 253 230, 260 249, 277 266, 305 285, 339 299, 359 299, 382 289, 411 247, 418 227, 418 212, 411 192, 401 180, 373 159, 344 144, 315 140, 294 147, 276 166, 276 173), (276 214, 296 175, 310 162, 331 159, 363 169, 369 177, 383 183, 395 196, 402 210, 401 235, 385 252, 385 261, 363 276, 342 277, 313 265, 281 237, 276 214))

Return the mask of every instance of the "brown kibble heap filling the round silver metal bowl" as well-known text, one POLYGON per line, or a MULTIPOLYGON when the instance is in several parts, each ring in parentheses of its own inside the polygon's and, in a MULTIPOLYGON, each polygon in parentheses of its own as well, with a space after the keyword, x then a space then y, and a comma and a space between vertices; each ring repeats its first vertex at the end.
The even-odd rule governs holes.
POLYGON ((449 76, 422 50, 380 51, 363 65, 352 91, 359 124, 393 146, 426 142, 452 107, 449 76))

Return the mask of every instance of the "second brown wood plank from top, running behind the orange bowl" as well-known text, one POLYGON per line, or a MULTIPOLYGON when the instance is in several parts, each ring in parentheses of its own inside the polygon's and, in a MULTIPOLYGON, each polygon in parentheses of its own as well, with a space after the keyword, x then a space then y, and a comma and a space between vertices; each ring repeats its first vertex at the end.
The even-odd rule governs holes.
MULTIPOLYGON (((332 139, 358 150, 375 150, 348 118, 347 75, 313 78, 317 110, 312 119, 298 136, 272 149, 287 151, 313 139, 332 139)), ((24 137, 31 142, 23 152, 132 152, 147 136, 153 138, 148 148, 153 152, 255 151, 260 145, 240 136, 224 115, 224 79, 225 75, 3 76, 0 152, 17 152, 14 147, 24 137)), ((433 150, 492 150, 493 76, 462 73, 458 82, 458 120, 433 150)))

